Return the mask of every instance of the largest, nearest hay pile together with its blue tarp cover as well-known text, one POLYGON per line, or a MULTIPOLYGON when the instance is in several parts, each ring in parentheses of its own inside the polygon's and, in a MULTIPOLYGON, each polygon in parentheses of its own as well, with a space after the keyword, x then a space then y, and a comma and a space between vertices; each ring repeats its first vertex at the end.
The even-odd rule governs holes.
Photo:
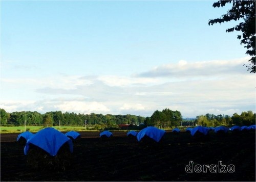
POLYGON ((37 170, 66 170, 71 166, 73 143, 70 138, 48 127, 28 139, 24 153, 37 170))

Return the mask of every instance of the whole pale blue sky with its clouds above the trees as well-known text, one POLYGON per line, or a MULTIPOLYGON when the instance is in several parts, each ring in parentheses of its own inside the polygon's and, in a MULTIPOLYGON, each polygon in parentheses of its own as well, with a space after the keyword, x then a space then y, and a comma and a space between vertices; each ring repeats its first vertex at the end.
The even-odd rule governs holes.
POLYGON ((0 108, 183 118, 255 112, 238 22, 215 1, 1 1, 0 108))

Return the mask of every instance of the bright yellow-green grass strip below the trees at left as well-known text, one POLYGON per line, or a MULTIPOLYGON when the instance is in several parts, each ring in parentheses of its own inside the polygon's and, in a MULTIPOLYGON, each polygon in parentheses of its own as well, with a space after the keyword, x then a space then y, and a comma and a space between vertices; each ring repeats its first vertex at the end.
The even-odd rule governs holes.
MULTIPOLYGON (((83 126, 52 126, 60 132, 69 132, 69 131, 86 131, 86 128, 83 126)), ((26 129, 32 133, 38 132, 40 129, 43 129, 43 126, 26 126, 26 129)), ((1 126, 1 133, 23 133, 25 132, 24 126, 1 126)), ((88 128, 87 128, 88 130, 88 128)), ((91 131, 91 130, 90 130, 91 131)))

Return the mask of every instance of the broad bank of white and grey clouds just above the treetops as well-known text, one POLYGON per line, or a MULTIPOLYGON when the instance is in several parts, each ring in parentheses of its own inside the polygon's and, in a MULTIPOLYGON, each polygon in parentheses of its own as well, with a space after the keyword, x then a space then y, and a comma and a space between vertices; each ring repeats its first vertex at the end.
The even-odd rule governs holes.
POLYGON ((255 76, 243 67, 247 60, 181 60, 132 76, 58 74, 41 78, 2 77, 1 85, 5 87, 1 87, 0 107, 8 112, 62 111, 141 116, 151 116, 156 110, 169 108, 190 118, 206 113, 255 112, 255 76), (14 86, 15 90, 12 90, 14 86))

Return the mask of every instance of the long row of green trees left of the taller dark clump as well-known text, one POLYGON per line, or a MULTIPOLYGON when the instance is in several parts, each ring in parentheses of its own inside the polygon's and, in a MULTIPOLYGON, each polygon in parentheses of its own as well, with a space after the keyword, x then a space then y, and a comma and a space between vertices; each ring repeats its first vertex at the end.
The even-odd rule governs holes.
POLYGON ((126 115, 112 115, 112 114, 76 114, 74 112, 62 113, 61 111, 52 111, 45 114, 40 114, 36 111, 22 111, 8 113, 4 109, 1 110, 1 126, 84 126, 85 124, 140 124, 143 123, 145 117, 135 116, 131 114, 126 115))

